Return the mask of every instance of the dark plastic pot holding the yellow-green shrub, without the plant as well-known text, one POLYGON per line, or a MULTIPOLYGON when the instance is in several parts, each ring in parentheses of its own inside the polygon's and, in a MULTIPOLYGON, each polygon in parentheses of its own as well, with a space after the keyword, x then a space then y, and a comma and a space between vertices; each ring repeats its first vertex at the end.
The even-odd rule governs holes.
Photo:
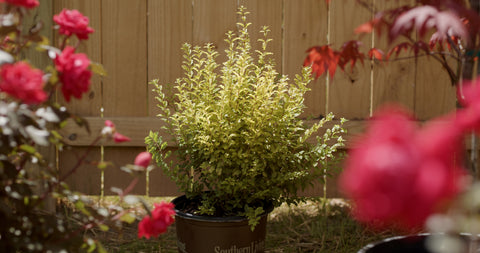
POLYGON ((185 195, 175 198, 175 226, 180 253, 262 253, 265 250, 268 208, 251 230, 245 217, 210 217, 182 212, 185 195))

